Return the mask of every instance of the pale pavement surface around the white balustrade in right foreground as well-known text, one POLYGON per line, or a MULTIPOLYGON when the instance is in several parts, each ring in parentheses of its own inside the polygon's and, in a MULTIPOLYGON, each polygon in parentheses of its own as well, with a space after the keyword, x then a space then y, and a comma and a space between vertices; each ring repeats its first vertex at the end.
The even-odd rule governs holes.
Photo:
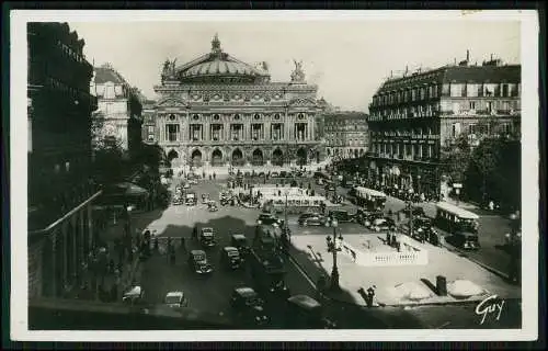
MULTIPOLYGON (((349 237, 349 240, 355 238, 356 242, 352 245, 359 247, 359 240, 365 237, 369 240, 376 239, 376 235, 362 237, 353 236, 349 237)), ((333 259, 332 254, 327 251, 324 241, 323 237, 295 235, 292 237, 289 256, 312 282, 317 282, 321 274, 331 275, 333 259)), ((496 294, 504 298, 521 298, 518 286, 505 283, 501 278, 476 263, 443 248, 420 244, 418 246, 427 250, 429 263, 425 265, 363 267, 344 254, 338 254, 339 281, 343 291, 330 297, 365 306, 366 302, 361 290, 375 285, 376 301, 381 306, 477 303, 484 298, 486 294, 496 294), (444 275, 448 285, 456 280, 469 280, 480 286, 484 293, 468 298, 457 298, 450 295, 437 296, 432 288, 437 275, 444 275), (409 291, 404 292, 408 286, 430 291, 430 297, 413 299, 407 295, 409 291)))

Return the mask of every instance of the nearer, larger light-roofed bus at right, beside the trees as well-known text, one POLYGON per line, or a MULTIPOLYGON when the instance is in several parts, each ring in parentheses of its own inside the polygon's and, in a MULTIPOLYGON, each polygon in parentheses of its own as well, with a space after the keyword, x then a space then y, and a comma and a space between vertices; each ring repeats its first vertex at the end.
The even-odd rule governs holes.
POLYGON ((479 249, 479 216, 446 202, 436 204, 434 224, 448 231, 455 238, 455 245, 463 249, 479 249))

